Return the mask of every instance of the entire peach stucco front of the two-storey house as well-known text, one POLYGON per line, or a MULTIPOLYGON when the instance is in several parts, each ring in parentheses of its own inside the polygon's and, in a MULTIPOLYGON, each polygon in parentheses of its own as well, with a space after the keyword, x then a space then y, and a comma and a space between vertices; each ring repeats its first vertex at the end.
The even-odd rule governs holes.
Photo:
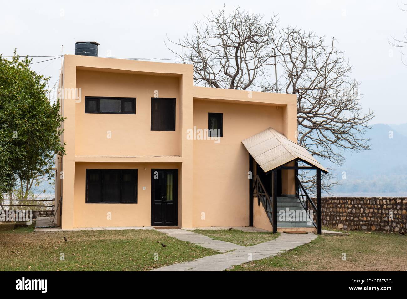
POLYGON ((65 55, 60 86, 81 88, 79 103, 61 101, 63 229, 150 225, 151 168, 179 169, 179 226, 248 225, 249 158, 241 141, 270 126, 295 141, 295 95, 195 87, 192 65, 65 55), (177 99, 176 131, 150 131, 155 90, 177 99), (135 97, 136 115, 84 113, 85 96, 135 97), (194 126, 207 128, 208 112, 223 113, 219 144, 186 137, 194 126), (138 203, 86 204, 86 168, 138 168, 138 203))

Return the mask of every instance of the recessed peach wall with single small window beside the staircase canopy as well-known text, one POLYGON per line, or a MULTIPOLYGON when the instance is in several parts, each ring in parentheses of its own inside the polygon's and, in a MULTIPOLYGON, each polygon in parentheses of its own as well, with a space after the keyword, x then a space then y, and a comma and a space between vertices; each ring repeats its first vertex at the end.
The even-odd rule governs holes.
POLYGON ((208 128, 208 112, 223 113, 223 137, 194 140, 193 225, 249 225, 249 154, 242 140, 273 127, 282 131, 278 106, 194 101, 194 126, 208 128), (201 213, 205 213, 202 219, 201 213))

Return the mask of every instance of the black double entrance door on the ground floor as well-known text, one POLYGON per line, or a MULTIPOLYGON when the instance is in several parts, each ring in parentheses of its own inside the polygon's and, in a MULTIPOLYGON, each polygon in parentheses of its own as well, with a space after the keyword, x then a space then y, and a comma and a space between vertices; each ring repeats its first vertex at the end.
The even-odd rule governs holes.
POLYGON ((177 225, 178 170, 151 169, 151 225, 177 225))

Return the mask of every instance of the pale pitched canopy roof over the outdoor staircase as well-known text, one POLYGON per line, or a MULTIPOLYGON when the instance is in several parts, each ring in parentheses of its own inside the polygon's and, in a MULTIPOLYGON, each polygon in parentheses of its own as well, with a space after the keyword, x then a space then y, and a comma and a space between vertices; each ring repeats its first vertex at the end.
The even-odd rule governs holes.
POLYGON ((292 142, 271 127, 243 140, 242 143, 265 172, 276 169, 295 159, 300 159, 324 172, 328 172, 304 146, 292 142))

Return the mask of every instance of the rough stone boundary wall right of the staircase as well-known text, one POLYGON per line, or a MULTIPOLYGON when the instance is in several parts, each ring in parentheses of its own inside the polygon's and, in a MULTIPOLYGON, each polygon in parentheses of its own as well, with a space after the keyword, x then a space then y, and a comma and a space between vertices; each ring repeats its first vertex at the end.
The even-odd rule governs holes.
POLYGON ((386 233, 407 231, 406 197, 322 197, 322 225, 386 233))

